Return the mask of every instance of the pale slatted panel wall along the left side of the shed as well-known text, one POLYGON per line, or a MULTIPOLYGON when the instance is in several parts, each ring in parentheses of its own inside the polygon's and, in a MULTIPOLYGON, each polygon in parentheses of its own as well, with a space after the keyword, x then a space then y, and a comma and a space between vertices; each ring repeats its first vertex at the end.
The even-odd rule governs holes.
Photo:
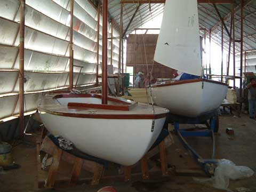
MULTIPOLYGON (((68 0, 26 0, 25 112, 37 108, 43 91, 68 85, 68 0), (35 93, 38 92, 38 93, 35 93)), ((0 1, 0 119, 18 114, 20 1, 0 1), (15 107, 16 106, 16 107, 15 107)), ((100 20, 102 25, 102 17, 100 20)), ((108 25, 110 37, 110 25, 108 25)), ((82 66, 78 86, 95 83, 97 10, 87 0, 74 1, 74 65, 82 66)), ((102 27, 100 27, 100 39, 102 27)), ((119 36, 114 29, 114 36, 119 36)), ((110 65, 110 39, 108 41, 110 65)), ((118 67, 119 41, 113 41, 113 66, 118 67)), ((100 40, 100 62, 101 47, 100 40)), ((100 67, 99 67, 100 68, 100 67)), ((74 67, 74 84, 79 67, 74 67)), ((101 73, 101 69, 99 70, 101 73)))

